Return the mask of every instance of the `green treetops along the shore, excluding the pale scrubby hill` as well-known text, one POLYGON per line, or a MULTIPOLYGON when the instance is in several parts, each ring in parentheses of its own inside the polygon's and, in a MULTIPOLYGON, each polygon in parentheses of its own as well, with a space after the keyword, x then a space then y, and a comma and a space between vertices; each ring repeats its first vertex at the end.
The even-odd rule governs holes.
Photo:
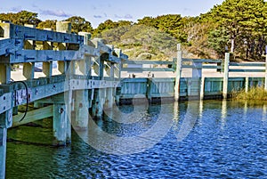
MULTIPOLYGON (((56 24, 56 20, 42 21, 36 12, 27 11, 0 13, 0 20, 19 25, 33 24, 36 28, 55 28, 56 24)), ((263 0, 225 0, 197 17, 167 14, 143 17, 135 23, 106 20, 97 28, 82 17, 73 16, 66 20, 71 21, 74 33, 90 32, 93 37, 104 37, 106 31, 121 27, 156 28, 174 37, 188 52, 200 58, 222 58, 229 51, 236 60, 263 60, 267 45, 267 3, 263 0)))

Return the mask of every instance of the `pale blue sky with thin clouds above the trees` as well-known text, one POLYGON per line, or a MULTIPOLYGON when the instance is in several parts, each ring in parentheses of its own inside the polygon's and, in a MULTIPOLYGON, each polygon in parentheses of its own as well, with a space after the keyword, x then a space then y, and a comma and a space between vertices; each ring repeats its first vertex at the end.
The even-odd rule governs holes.
POLYGON ((136 21, 163 14, 198 16, 223 0, 0 0, 0 12, 37 12, 41 20, 81 16, 96 28, 105 20, 136 21))

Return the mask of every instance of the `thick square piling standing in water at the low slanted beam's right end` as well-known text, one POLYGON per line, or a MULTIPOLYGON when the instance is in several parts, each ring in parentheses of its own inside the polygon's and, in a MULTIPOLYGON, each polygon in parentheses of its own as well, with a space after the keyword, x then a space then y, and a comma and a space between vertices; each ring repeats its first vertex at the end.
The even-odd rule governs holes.
POLYGON ((65 104, 53 104, 53 145, 66 145, 68 117, 65 104))

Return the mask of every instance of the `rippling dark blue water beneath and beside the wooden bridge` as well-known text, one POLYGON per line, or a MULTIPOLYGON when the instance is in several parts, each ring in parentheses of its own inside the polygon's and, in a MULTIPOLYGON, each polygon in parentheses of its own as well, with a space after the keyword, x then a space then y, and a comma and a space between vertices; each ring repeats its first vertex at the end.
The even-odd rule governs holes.
POLYGON ((95 120, 117 145, 98 130, 73 131, 69 146, 52 147, 49 120, 10 129, 8 138, 19 142, 8 142, 6 178, 267 178, 266 104, 179 102, 119 110, 95 120))

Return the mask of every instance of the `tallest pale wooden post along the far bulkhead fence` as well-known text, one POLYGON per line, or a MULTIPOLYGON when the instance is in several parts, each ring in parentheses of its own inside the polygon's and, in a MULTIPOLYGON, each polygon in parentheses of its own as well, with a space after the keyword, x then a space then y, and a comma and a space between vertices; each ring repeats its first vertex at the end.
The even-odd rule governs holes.
POLYGON ((182 50, 181 45, 177 45, 177 61, 176 61, 176 77, 175 77, 175 86, 174 86, 174 100, 179 101, 180 93, 180 78, 182 73, 182 50))

